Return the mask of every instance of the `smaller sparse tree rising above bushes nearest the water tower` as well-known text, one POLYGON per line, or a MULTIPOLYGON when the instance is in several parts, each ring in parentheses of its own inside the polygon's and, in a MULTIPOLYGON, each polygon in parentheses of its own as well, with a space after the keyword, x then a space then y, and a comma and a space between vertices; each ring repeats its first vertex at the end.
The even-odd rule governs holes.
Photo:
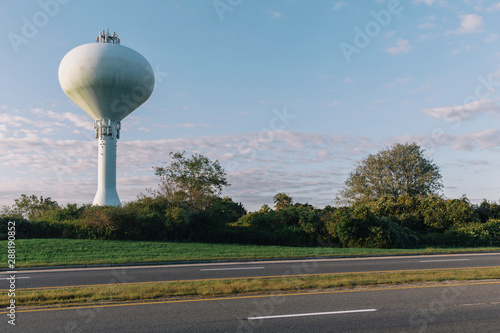
POLYGON ((170 153, 170 161, 163 167, 153 167, 160 177, 156 194, 165 196, 174 204, 187 204, 205 210, 222 189, 230 186, 218 160, 211 161, 199 154, 170 153))

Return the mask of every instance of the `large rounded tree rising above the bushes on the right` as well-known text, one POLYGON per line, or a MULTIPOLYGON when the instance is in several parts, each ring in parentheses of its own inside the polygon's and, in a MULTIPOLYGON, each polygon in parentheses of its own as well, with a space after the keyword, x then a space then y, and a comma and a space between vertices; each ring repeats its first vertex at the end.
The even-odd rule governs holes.
POLYGON ((353 204, 382 196, 425 197, 442 187, 439 167, 424 150, 416 143, 398 143, 357 162, 337 199, 353 204))

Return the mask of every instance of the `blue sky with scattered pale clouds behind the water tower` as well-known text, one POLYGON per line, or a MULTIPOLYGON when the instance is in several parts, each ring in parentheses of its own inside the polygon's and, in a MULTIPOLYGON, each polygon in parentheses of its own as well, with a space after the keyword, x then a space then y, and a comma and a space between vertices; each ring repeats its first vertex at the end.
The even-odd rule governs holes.
POLYGON ((278 192, 332 205, 356 161, 413 141, 445 196, 497 201, 499 15, 481 0, 2 0, 0 205, 21 193, 92 201, 92 119, 57 71, 108 27, 157 82, 122 121, 122 201, 185 150, 218 159, 224 194, 249 210, 278 192))

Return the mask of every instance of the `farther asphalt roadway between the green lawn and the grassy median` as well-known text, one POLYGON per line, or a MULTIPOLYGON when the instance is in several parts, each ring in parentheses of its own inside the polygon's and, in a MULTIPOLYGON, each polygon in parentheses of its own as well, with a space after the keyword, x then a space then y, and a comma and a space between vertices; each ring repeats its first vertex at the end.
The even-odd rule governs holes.
MULTIPOLYGON (((16 288, 500 266, 500 253, 18 271, 16 288)), ((0 290, 8 289, 7 272, 0 290)))

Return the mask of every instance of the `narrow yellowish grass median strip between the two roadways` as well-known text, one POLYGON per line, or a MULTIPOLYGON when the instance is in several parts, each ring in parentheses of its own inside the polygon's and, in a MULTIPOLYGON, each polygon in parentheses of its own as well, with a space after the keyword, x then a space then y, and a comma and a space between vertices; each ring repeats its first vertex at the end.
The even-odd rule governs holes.
MULTIPOLYGON (((331 274, 272 279, 227 279, 216 281, 182 281, 126 285, 89 286, 46 290, 17 290, 16 305, 76 305, 98 302, 164 300, 179 297, 214 297, 299 290, 345 289, 357 286, 397 286, 443 281, 484 280, 500 278, 500 268, 447 271, 401 271, 388 273, 331 274)), ((448 282, 449 283, 449 282, 448 282)), ((447 284, 450 285, 450 284, 447 284)), ((0 307, 9 302, 0 294, 0 307)))

